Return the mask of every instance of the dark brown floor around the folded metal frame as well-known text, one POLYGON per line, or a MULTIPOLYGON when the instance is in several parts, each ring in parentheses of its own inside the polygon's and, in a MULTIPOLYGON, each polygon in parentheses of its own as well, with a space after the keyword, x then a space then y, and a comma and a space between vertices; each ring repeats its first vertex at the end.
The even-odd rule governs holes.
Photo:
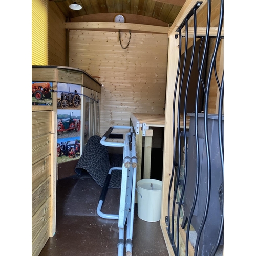
MULTIPOLYGON (((90 175, 74 175, 57 181, 56 233, 49 238, 39 256, 118 254, 118 220, 103 219, 96 212, 101 190, 90 175)), ((119 198, 120 189, 108 189, 101 211, 118 214, 119 198)), ((137 204, 133 255, 169 255, 159 221, 141 220, 137 214, 137 204)))

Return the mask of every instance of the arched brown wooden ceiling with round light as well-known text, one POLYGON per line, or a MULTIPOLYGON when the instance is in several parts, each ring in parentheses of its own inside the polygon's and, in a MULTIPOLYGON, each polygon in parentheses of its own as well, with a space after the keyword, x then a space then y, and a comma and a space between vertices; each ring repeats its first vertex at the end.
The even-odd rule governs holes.
POLYGON ((76 0, 79 11, 69 8, 75 0, 55 2, 66 22, 113 22, 116 14, 123 14, 126 23, 170 27, 186 0, 76 0))

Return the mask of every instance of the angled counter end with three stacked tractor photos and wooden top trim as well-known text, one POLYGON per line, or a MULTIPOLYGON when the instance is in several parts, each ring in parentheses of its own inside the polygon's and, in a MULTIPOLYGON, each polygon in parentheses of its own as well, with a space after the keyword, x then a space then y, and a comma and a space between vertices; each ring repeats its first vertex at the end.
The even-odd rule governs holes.
POLYGON ((57 163, 78 158, 88 139, 99 135, 101 84, 81 69, 64 66, 32 66, 32 82, 51 83, 52 109, 57 116, 57 163))

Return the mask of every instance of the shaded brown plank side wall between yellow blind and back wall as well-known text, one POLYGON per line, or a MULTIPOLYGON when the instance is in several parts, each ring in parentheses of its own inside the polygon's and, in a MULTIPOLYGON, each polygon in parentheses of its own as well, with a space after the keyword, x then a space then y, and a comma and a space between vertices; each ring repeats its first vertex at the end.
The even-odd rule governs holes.
POLYGON ((65 16, 56 3, 48 3, 48 65, 65 66, 66 29, 65 16))

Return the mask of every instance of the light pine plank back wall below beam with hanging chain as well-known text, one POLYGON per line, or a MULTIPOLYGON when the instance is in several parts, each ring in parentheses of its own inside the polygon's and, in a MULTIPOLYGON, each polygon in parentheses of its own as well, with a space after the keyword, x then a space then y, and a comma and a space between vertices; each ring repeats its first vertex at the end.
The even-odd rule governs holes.
MULTIPOLYGON (((121 32, 123 47, 129 33, 121 32)), ((118 32, 70 31, 69 66, 99 76, 100 136, 110 126, 129 125, 130 113, 163 114, 168 38, 132 33, 122 49, 118 32)))

